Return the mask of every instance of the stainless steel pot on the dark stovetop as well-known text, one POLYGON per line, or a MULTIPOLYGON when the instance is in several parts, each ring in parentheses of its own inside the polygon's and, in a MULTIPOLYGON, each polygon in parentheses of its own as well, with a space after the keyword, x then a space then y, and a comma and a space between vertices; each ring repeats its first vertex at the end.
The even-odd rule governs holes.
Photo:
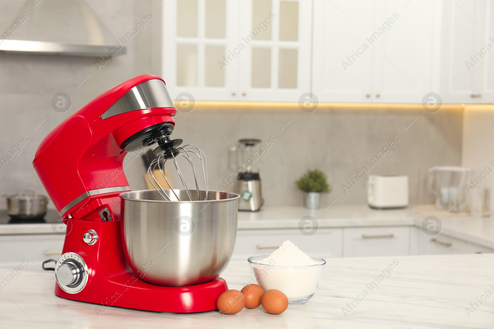
POLYGON ((48 197, 35 192, 7 196, 7 213, 15 218, 41 218, 46 215, 48 197))

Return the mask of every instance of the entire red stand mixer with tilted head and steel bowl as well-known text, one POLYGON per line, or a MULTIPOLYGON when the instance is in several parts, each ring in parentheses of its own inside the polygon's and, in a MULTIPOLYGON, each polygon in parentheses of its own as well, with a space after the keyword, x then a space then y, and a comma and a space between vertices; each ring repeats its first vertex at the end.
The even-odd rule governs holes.
POLYGON ((122 193, 130 190, 122 167, 127 152, 156 143, 156 153, 167 159, 178 155, 182 140, 169 137, 175 113, 165 81, 141 75, 84 105, 41 142, 33 165, 67 224, 55 265, 56 295, 100 304, 98 312, 108 306, 178 313, 216 309, 218 296, 228 289, 218 275, 235 244, 238 196, 206 187, 205 201, 198 197, 196 204, 172 193, 167 201, 152 190, 122 193), (227 202, 225 222, 214 221, 221 220, 214 218, 218 201, 227 202), (206 211, 198 215, 194 207, 206 211), (192 234, 170 229, 184 218, 194 224, 192 234), (216 233, 208 232, 210 227, 216 233), (195 254, 212 265, 196 266, 195 254))

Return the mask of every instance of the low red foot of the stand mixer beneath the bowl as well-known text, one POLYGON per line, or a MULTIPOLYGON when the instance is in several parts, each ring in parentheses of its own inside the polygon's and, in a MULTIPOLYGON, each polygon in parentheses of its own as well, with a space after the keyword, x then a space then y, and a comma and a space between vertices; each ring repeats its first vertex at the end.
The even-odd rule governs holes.
MULTIPOLYGON (((103 278, 93 279, 101 281, 103 278)), ((97 291, 84 289, 75 294, 64 292, 55 284, 55 294, 67 299, 99 304, 96 313, 100 316, 110 306, 172 313, 213 311, 217 309, 216 300, 219 295, 228 290, 222 278, 185 287, 151 285, 141 279, 136 279, 133 272, 124 272, 105 279, 105 283, 92 282, 98 285, 97 291)))

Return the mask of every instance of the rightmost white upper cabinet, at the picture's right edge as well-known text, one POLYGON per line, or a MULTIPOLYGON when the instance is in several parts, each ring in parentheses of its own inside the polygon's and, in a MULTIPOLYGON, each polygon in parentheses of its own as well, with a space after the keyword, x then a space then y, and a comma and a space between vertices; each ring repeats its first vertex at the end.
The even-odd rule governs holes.
POLYGON ((494 3, 444 2, 444 103, 494 103, 494 3))

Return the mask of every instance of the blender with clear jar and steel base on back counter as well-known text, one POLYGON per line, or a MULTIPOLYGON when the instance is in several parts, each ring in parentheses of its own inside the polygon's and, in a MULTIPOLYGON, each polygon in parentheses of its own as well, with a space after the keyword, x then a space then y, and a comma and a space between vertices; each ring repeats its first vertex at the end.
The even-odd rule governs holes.
POLYGON ((240 194, 239 210, 258 211, 264 203, 261 195, 259 177, 260 157, 259 139, 240 139, 235 149, 237 154, 240 177, 237 180, 235 192, 240 194))

